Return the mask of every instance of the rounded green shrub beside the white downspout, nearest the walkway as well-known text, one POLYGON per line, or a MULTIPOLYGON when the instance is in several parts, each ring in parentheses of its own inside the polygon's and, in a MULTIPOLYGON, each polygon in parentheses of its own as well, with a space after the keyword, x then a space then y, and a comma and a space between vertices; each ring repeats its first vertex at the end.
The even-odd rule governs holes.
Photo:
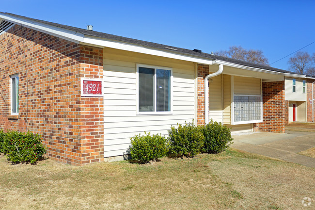
POLYGON ((231 129, 221 123, 211 120, 203 127, 203 133, 205 136, 203 152, 219 153, 232 144, 231 129))

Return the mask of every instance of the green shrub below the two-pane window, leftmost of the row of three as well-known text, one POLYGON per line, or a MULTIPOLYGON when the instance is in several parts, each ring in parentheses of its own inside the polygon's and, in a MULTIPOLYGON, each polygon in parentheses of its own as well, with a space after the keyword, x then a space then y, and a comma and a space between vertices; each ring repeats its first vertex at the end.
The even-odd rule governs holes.
POLYGON ((166 138, 161 134, 151 136, 150 133, 144 132, 143 136, 135 135, 130 140, 129 149, 133 160, 147 163, 156 161, 167 153, 166 138))

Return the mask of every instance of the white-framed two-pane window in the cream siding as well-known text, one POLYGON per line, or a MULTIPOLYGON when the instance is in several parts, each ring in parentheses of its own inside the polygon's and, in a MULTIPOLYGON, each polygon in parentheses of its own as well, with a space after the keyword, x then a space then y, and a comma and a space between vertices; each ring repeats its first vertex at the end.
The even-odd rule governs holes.
POLYGON ((172 69, 137 66, 138 114, 171 113, 172 69))

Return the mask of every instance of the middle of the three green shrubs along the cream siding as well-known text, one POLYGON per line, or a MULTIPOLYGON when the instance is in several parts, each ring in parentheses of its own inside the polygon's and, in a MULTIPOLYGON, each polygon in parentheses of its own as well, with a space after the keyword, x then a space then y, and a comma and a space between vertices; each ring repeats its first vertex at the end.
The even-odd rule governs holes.
POLYGON ((185 122, 185 125, 177 123, 178 129, 171 127, 169 130, 170 150, 177 156, 193 157, 201 152, 204 146, 204 135, 201 127, 185 122))

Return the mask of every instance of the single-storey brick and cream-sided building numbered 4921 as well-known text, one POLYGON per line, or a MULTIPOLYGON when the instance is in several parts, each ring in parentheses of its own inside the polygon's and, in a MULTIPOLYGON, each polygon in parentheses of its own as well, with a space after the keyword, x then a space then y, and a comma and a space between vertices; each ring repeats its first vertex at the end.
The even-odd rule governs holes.
POLYGON ((122 158, 135 134, 193 119, 284 132, 284 78, 312 79, 14 14, 0 24, 0 128, 41 134, 49 158, 74 165, 122 158))

